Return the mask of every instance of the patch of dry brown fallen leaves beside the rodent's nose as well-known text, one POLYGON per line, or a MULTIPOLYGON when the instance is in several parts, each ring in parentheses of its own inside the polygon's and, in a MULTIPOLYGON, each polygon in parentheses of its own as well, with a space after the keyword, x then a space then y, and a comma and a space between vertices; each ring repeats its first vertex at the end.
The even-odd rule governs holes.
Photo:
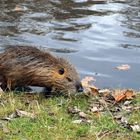
MULTIPOLYGON (((77 114, 79 120, 73 123, 85 123, 87 120, 92 122, 92 115, 100 118, 104 112, 109 112, 113 120, 119 125, 140 133, 140 124, 130 123, 128 113, 131 114, 135 110, 140 110, 140 104, 134 104, 133 99, 136 97, 136 92, 132 89, 99 89, 95 85, 90 85, 91 81, 95 81, 93 77, 85 77, 82 80, 84 85, 85 96, 89 97, 89 103, 86 111, 74 107, 71 114, 77 114)), ((133 120, 135 121, 135 120, 133 120)))

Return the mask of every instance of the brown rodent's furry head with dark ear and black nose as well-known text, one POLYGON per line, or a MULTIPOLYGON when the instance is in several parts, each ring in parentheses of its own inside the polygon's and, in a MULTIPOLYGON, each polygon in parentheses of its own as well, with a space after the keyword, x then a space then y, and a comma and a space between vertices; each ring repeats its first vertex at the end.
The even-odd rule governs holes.
POLYGON ((42 86, 46 87, 46 90, 67 94, 83 91, 79 75, 74 66, 67 60, 52 55, 48 57, 48 60, 36 69, 39 82, 40 84, 42 82, 42 86))

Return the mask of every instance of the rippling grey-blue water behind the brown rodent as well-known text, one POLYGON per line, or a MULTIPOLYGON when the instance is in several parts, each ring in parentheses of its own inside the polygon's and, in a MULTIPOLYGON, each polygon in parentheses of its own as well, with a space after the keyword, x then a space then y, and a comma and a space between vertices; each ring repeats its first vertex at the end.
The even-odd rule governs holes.
POLYGON ((94 76, 100 88, 140 88, 139 0, 0 0, 0 11, 1 48, 76 50, 55 54, 70 59, 81 78, 94 76), (131 69, 116 70, 120 64, 131 69))

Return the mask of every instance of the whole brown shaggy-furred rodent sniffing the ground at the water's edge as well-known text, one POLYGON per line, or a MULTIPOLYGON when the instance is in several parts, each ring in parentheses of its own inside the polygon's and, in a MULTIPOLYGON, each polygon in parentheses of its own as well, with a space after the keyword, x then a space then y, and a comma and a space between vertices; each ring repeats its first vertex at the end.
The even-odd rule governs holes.
POLYGON ((55 93, 83 90, 76 69, 65 59, 32 46, 10 46, 0 54, 3 90, 39 86, 55 93))

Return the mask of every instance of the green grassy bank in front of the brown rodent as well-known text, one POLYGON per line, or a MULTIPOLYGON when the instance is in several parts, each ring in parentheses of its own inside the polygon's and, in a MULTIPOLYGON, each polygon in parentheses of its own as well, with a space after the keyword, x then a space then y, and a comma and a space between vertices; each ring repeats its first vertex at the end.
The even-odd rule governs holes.
MULTIPOLYGON (((93 98, 93 97, 92 97, 93 98)), ((0 140, 139 140, 140 134, 118 124, 112 114, 88 112, 90 97, 84 95, 66 98, 44 98, 39 94, 4 93, 0 97, 0 140), (68 107, 76 106, 88 114, 91 123, 73 123, 80 120, 78 114, 68 113, 68 107), (3 120, 16 109, 35 114, 35 118, 16 117, 3 120)), ((133 104, 140 105, 140 95, 133 99, 133 104)), ((140 111, 124 112, 131 123, 140 124, 140 111)))

